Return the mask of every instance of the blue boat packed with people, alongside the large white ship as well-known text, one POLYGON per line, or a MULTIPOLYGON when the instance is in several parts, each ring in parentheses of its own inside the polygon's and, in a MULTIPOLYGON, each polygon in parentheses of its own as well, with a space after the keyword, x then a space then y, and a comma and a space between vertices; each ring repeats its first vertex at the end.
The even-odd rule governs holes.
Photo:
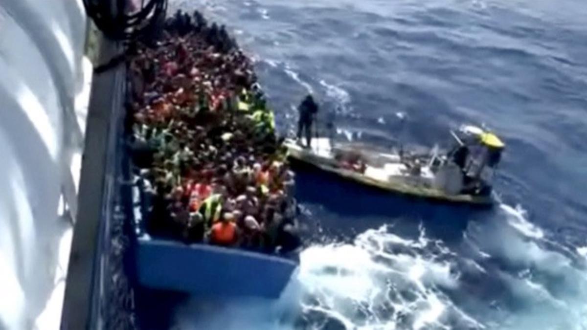
POLYGON ((150 38, 127 53, 137 280, 277 298, 298 265, 295 180, 252 63, 198 12, 178 12, 150 38))

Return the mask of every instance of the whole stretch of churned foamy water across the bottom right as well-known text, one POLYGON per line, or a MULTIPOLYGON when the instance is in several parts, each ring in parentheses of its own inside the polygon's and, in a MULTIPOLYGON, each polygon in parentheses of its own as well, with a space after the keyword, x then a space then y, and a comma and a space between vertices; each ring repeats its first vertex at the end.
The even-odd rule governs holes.
POLYGON ((312 245, 302 252, 299 274, 278 302, 193 301, 178 311, 177 324, 181 329, 586 329, 585 270, 564 249, 549 247, 544 231, 521 207, 501 205, 497 213, 495 221, 471 221, 453 250, 427 237, 424 225, 415 239, 383 225, 352 243, 312 245))

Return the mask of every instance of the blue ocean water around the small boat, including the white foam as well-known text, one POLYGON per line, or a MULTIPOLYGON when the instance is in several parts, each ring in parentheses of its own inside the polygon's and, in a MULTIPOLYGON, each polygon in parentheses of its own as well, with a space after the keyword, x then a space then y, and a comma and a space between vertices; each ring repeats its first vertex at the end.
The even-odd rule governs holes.
POLYGON ((507 143, 490 210, 299 172, 311 232, 278 302, 186 302, 181 329, 587 329, 587 3, 171 1, 226 24, 280 132, 309 91, 338 139, 507 143), (404 120, 400 120, 404 117, 404 120))

